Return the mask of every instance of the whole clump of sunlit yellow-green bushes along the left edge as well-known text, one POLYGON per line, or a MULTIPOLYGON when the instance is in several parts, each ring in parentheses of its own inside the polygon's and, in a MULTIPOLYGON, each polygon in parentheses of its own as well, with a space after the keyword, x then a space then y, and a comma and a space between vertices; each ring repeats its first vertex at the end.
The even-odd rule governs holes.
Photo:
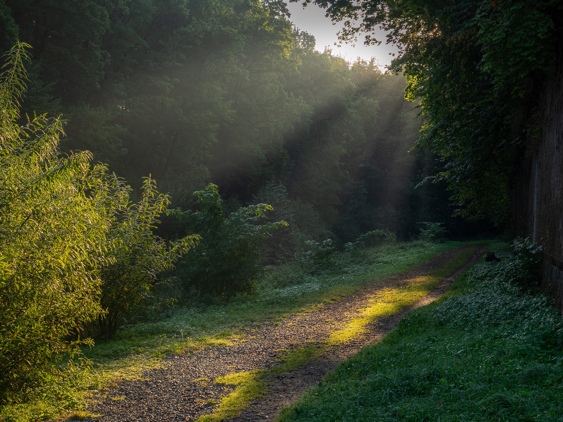
POLYGON ((48 380, 57 358, 92 344, 83 326, 115 331, 196 236, 172 244, 151 232, 168 204, 148 179, 137 204, 90 152, 59 158, 62 120, 19 125, 26 44, 0 78, 0 400, 48 380))

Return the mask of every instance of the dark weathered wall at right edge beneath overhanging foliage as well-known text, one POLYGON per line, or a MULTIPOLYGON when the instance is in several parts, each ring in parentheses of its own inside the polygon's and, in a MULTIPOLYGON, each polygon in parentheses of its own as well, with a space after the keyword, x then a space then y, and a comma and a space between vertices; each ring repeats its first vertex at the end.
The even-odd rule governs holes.
POLYGON ((542 87, 537 109, 540 137, 522 158, 515 179, 517 232, 543 246, 542 288, 563 308, 563 60, 542 87))

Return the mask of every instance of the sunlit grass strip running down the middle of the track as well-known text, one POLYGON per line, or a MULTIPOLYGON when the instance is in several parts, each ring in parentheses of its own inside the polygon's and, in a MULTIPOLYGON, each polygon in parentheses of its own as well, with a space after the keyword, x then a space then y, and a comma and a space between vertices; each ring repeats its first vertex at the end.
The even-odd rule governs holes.
POLYGON ((262 396, 266 391, 264 379, 268 376, 297 369, 327 353, 330 347, 349 342, 358 338, 366 331, 368 324, 400 312, 435 289, 441 279, 463 266, 476 252, 480 245, 472 245, 455 258, 436 268, 431 275, 419 277, 413 284, 397 288, 386 288, 378 291, 369 299, 369 306, 358 310, 358 316, 352 318, 341 329, 333 331, 328 339, 321 344, 308 344, 296 351, 289 352, 282 359, 282 364, 270 370, 239 372, 215 380, 216 383, 236 385, 233 393, 226 395, 219 407, 211 415, 200 417, 198 422, 220 422, 238 416, 249 403, 262 396))

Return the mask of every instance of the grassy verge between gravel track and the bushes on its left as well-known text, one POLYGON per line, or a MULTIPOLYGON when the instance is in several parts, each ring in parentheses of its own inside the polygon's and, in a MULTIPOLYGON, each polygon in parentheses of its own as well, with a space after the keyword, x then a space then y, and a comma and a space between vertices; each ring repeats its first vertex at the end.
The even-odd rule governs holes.
POLYGON ((317 274, 296 263, 271 268, 253 295, 235 297, 222 306, 179 308, 166 319, 127 327, 113 340, 97 342, 84 350, 88 364, 82 371, 70 377, 65 372, 46 387, 26 392, 21 402, 2 406, 0 421, 41 420, 80 411, 92 394, 120 379, 140 378, 142 372, 163 365, 166 354, 230 344, 245 326, 315 309, 462 245, 386 243, 356 254, 340 254, 332 267, 317 274))

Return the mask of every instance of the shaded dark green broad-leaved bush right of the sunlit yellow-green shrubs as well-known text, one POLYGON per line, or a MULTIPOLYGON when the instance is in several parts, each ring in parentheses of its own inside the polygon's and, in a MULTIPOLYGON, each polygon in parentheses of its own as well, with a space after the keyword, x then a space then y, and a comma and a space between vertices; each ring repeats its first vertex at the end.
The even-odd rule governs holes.
POLYGON ((257 204, 239 208, 225 216, 216 185, 194 192, 202 209, 176 214, 202 237, 180 264, 178 276, 201 293, 230 297, 247 293, 262 270, 262 248, 272 230, 287 226, 284 221, 263 222, 272 207, 257 204))

